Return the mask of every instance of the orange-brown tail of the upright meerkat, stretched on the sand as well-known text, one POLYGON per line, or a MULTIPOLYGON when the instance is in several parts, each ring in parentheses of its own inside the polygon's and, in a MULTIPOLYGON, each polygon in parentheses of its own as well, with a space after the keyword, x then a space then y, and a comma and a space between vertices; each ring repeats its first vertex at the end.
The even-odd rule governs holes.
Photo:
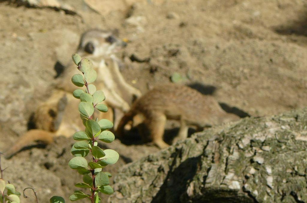
POLYGON ((4 156, 6 159, 10 159, 24 147, 30 146, 34 141, 42 141, 46 144, 50 144, 53 142, 54 133, 48 132, 46 130, 41 129, 33 129, 26 132, 23 136, 21 136, 17 142, 13 145, 13 147, 9 148, 4 156))

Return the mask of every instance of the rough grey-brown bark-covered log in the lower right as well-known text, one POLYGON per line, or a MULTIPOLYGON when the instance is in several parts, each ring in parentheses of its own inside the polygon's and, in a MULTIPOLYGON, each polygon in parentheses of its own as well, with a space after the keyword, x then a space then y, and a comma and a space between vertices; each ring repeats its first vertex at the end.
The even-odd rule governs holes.
POLYGON ((133 162, 109 202, 307 202, 307 109, 197 133, 133 162))

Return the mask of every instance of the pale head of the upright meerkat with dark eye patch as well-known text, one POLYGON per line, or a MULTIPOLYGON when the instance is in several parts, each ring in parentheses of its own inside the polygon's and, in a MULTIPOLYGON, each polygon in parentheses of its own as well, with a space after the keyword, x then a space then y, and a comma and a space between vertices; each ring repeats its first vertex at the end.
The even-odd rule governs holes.
POLYGON ((111 31, 90 30, 85 32, 79 43, 78 53, 80 55, 108 56, 127 44, 119 40, 111 31))

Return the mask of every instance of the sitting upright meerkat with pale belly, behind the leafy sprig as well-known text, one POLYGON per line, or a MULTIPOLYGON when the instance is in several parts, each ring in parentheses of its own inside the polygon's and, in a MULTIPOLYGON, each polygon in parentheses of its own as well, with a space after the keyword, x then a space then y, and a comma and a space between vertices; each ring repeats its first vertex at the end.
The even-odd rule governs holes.
MULTIPOLYGON (((109 119, 114 122, 114 126, 123 113, 128 112, 132 100, 141 96, 141 92, 128 84, 119 71, 121 62, 114 53, 125 46, 126 43, 117 39, 112 32, 90 30, 82 35, 77 50, 82 58, 86 57, 92 61, 97 72, 94 84, 98 90, 104 92, 105 104, 109 108, 104 114, 95 112, 95 117, 109 119)), ((51 97, 35 111, 33 123, 36 129, 31 129, 18 138, 5 152, 7 159, 34 141, 50 144, 56 136, 70 137, 74 132, 84 130, 78 111, 80 101, 72 96, 72 92, 79 87, 71 82, 71 77, 80 72, 75 64, 71 64, 66 66, 56 79, 51 97)))

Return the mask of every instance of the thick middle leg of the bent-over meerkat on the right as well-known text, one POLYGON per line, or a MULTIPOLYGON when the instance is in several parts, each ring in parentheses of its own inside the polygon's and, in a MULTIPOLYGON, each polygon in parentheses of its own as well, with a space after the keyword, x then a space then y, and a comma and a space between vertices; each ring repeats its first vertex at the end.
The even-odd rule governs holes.
POLYGON ((166 116, 162 113, 154 113, 151 118, 146 118, 145 122, 150 132, 150 139, 153 143, 161 149, 169 147, 169 145, 163 141, 166 116))

